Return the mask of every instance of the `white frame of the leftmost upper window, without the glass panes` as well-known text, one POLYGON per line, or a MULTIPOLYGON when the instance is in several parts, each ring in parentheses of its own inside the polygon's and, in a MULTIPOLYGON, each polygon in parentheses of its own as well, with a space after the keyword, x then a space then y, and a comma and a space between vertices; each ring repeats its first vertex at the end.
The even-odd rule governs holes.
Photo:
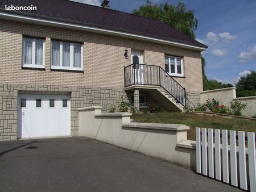
POLYGON ((46 40, 45 39, 23 36, 22 66, 24 68, 40 68, 40 69, 44 69, 46 67, 46 40), (24 64, 24 58, 23 57, 24 57, 24 49, 25 49, 25 38, 32 39, 32 64, 24 64), (35 64, 36 39, 43 40, 43 65, 36 65, 35 64))

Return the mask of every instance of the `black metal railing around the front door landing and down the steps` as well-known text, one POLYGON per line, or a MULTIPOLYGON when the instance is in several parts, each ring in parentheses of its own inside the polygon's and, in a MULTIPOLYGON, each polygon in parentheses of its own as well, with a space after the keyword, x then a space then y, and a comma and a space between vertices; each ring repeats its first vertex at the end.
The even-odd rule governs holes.
POLYGON ((146 64, 125 66, 125 87, 132 85, 160 86, 185 107, 185 88, 160 66, 146 64))

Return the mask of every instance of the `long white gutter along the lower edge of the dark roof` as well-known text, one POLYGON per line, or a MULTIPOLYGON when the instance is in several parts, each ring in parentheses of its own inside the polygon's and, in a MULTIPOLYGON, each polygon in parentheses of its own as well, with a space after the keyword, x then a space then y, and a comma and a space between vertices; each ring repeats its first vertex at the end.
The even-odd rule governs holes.
POLYGON ((120 31, 120 30, 116 30, 116 29, 113 30, 113 28, 106 28, 106 27, 102 27, 102 26, 92 26, 89 24, 85 25, 82 22, 76 22, 76 21, 73 21, 73 20, 71 21, 71 20, 67 20, 67 19, 56 18, 55 20, 53 20, 49 16, 40 16, 39 17, 38 15, 30 16, 29 14, 13 14, 13 13, 1 10, 0 18, 7 19, 7 20, 14 20, 14 21, 18 21, 18 22, 25 22, 25 23, 43 24, 45 26, 69 28, 69 29, 73 29, 73 30, 88 31, 88 32, 96 32, 98 34, 127 37, 130 39, 150 41, 153 43, 172 45, 175 47, 187 48, 187 49, 192 49, 192 50, 196 50, 196 51, 205 51, 207 49, 206 45, 204 45, 205 47, 204 46, 200 47, 200 46, 191 45, 188 43, 163 39, 162 37, 161 38, 151 37, 151 36, 145 36, 142 34, 134 34, 134 32, 130 32, 130 31, 120 31))

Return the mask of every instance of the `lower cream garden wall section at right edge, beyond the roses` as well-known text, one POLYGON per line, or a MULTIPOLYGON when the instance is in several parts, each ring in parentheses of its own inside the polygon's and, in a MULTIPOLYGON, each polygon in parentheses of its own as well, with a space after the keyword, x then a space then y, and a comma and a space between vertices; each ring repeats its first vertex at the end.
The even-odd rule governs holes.
POLYGON ((241 103, 247 103, 246 109, 242 111, 242 116, 252 117, 256 115, 256 96, 238 97, 233 101, 239 100, 241 103))

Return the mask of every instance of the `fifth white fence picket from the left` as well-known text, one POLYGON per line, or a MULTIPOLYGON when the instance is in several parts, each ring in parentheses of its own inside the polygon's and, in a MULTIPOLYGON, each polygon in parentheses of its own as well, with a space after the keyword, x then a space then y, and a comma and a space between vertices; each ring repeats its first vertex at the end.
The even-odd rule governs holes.
POLYGON ((223 181, 229 183, 229 152, 228 152, 228 130, 221 130, 222 134, 222 173, 223 181))

